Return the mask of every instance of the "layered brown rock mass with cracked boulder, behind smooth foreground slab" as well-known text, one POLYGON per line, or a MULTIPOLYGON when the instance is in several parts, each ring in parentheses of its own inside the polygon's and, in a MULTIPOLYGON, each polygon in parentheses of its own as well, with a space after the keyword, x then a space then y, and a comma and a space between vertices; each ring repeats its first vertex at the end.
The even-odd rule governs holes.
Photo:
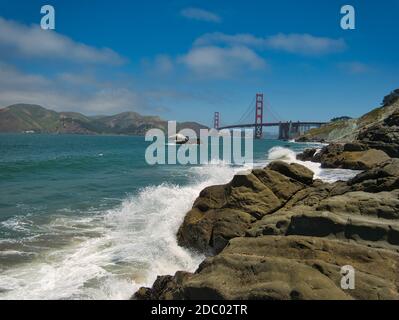
POLYGON ((303 169, 274 162, 206 188, 179 229, 179 244, 218 253, 236 237, 297 234, 399 245, 396 222, 384 221, 399 215, 398 193, 387 192, 399 188, 399 159, 333 184, 309 184, 303 169))

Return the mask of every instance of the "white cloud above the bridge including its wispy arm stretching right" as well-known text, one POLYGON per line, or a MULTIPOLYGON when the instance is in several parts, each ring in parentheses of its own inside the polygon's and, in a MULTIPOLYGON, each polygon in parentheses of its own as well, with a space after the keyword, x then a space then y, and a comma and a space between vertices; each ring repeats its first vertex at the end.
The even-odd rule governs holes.
POLYGON ((252 34, 229 35, 207 33, 194 41, 193 47, 177 62, 203 77, 231 77, 241 71, 256 71, 266 67, 259 54, 264 50, 279 50, 302 55, 322 55, 346 48, 342 39, 316 37, 309 34, 277 34, 256 37, 252 34))

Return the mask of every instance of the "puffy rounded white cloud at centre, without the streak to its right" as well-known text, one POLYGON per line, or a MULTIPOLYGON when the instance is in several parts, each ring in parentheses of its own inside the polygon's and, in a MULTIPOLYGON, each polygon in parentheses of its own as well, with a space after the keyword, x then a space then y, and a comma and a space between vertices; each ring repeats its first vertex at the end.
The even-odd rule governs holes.
POLYGON ((264 69, 266 62, 247 47, 220 48, 216 46, 193 47, 180 56, 178 62, 196 74, 207 77, 230 77, 241 70, 264 69))

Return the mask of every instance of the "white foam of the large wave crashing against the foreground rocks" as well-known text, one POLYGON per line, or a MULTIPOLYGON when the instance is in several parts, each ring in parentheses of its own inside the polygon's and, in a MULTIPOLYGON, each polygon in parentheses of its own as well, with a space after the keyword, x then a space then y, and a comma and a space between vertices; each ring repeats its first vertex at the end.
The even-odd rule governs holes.
POLYGON ((178 227, 203 188, 228 182, 238 170, 194 167, 191 185, 147 187, 115 210, 57 219, 54 229, 86 225, 98 236, 79 236, 67 247, 4 271, 0 299, 128 299, 157 275, 194 271, 204 257, 177 245, 178 227))

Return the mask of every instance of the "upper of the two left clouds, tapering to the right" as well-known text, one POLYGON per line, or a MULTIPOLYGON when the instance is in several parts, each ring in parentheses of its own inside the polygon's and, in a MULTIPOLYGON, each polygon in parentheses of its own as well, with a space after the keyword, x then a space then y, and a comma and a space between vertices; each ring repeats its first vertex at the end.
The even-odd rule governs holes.
POLYGON ((37 25, 23 24, 0 17, 0 55, 62 60, 75 63, 124 63, 124 58, 109 48, 95 48, 37 25))

